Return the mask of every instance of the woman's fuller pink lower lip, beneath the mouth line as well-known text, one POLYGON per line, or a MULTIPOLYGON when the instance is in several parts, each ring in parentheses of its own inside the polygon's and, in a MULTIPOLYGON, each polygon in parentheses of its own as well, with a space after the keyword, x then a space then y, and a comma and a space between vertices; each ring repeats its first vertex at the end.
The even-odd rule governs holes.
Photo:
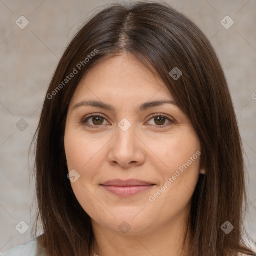
POLYGON ((130 196, 152 188, 154 185, 140 185, 140 186, 105 186, 102 185, 108 192, 118 196, 130 196))

